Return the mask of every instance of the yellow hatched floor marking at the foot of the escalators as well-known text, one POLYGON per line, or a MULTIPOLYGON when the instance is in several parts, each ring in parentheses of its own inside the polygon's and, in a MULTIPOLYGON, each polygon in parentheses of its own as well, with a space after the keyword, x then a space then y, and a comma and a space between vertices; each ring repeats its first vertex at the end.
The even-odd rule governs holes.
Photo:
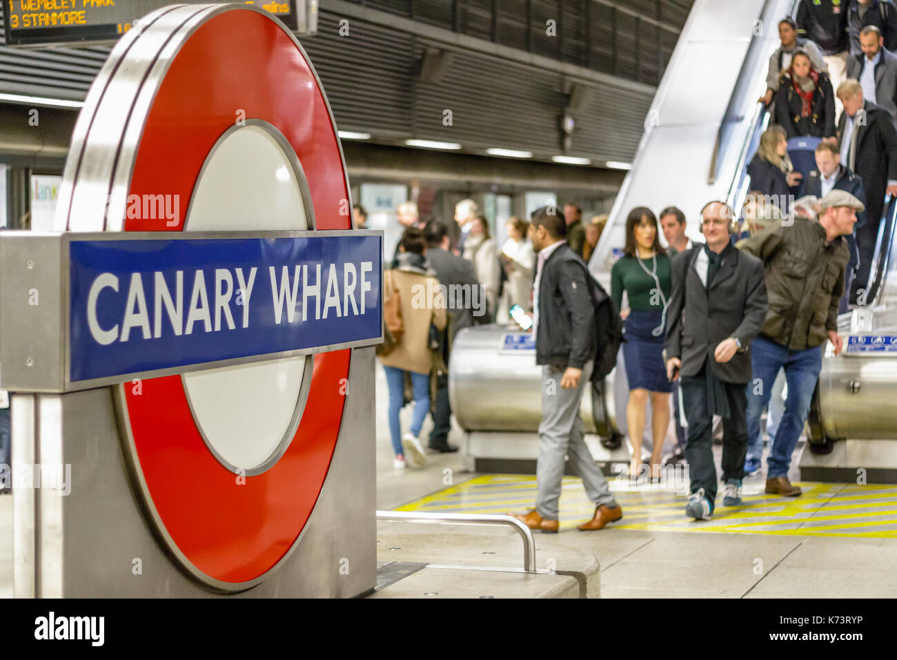
MULTIPOLYGON (((745 483, 742 506, 722 506, 722 485, 709 521, 685 515, 687 488, 630 486, 611 480, 623 520, 608 529, 650 532, 748 532, 797 536, 897 538, 897 486, 799 482, 800 497, 765 495, 764 483, 745 483)), ((503 514, 535 506, 536 477, 484 474, 404 506, 399 511, 503 514)), ((561 530, 588 520, 594 507, 577 477, 564 477, 561 530)))

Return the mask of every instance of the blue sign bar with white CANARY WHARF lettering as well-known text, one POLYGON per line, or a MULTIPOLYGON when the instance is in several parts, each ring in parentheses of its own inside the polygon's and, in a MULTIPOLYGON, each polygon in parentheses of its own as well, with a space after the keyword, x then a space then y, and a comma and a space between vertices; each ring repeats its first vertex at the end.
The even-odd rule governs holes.
POLYGON ((72 238, 69 381, 377 343, 381 237, 345 234, 72 238))

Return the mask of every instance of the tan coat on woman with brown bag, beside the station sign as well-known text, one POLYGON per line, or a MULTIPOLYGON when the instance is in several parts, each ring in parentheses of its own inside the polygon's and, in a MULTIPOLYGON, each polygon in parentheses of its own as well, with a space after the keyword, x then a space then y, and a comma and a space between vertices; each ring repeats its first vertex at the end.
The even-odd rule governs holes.
POLYGON ((388 270, 383 299, 392 295, 390 277, 398 289, 405 334, 388 356, 380 356, 384 366, 395 366, 417 374, 429 374, 432 356, 428 340, 430 324, 440 330, 446 327, 446 305, 436 277, 427 277, 403 270, 388 270))

